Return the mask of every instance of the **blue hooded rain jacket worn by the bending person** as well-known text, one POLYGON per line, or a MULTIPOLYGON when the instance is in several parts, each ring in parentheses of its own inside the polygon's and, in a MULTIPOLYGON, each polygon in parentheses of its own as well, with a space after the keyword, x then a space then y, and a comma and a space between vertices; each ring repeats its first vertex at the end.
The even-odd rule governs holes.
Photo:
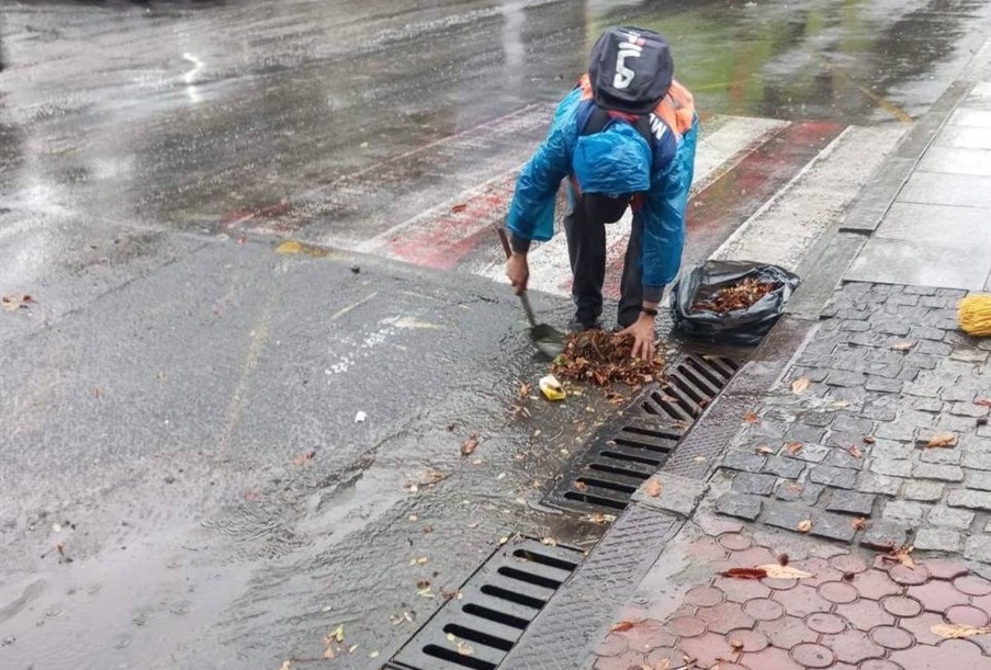
POLYGON ((641 281, 645 289, 663 287, 677 276, 682 263, 698 116, 692 116, 690 129, 680 136, 665 124, 650 152, 644 154, 646 141, 624 122, 579 136, 590 104, 583 100, 582 89, 576 88, 558 105, 547 139, 516 182, 507 227, 521 239, 551 239, 558 189, 563 179, 575 177, 576 171, 579 185, 589 193, 639 192, 643 200, 639 208, 634 206, 633 214, 643 224, 641 281), (650 157, 649 168, 644 156, 650 157))

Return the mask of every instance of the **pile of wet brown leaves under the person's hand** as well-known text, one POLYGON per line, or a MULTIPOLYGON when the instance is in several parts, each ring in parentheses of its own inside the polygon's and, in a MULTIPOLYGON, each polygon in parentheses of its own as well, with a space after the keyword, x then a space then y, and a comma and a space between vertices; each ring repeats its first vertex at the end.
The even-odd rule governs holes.
POLYGON ((661 379, 664 359, 634 359, 632 336, 586 330, 567 336, 564 351, 551 364, 551 373, 560 379, 587 382, 609 388, 619 382, 641 386, 661 379))

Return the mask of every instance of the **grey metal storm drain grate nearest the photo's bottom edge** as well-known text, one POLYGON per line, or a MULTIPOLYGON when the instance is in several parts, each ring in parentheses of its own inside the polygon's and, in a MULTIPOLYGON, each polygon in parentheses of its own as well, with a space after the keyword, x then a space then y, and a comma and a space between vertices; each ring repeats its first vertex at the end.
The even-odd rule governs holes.
POLYGON ((530 538, 504 545, 386 668, 493 670, 583 557, 578 549, 530 538))

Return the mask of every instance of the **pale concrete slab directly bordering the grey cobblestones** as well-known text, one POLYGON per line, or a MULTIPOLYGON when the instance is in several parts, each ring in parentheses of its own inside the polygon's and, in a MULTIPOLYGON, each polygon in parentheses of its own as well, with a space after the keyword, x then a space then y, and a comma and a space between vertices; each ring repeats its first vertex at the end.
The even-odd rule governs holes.
POLYGON ((872 238, 844 279, 980 291, 991 272, 991 246, 872 238))

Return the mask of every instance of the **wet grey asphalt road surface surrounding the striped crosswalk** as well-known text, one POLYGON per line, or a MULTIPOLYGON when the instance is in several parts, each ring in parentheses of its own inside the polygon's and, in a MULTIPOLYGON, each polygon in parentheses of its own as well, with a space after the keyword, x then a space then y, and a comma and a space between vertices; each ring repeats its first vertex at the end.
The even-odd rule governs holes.
POLYGON ((510 412, 541 370, 511 296, 275 243, 360 247, 522 162, 541 128, 443 140, 555 101, 609 23, 668 34, 707 114, 871 125, 924 113, 989 19, 394 4, 0 10, 0 292, 37 300, 0 314, 4 668, 278 668, 339 624, 359 647, 324 665, 375 667, 438 606, 419 580, 457 587, 514 532, 587 546, 539 502, 609 409, 510 412))

